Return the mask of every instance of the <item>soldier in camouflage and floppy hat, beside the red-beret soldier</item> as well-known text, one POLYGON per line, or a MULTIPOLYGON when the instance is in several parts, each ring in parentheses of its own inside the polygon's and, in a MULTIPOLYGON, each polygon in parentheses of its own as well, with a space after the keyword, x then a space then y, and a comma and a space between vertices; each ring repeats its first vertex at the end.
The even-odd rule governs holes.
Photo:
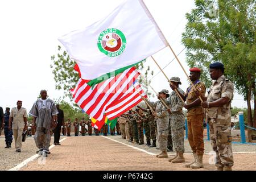
MULTIPOLYGON (((183 90, 179 88, 181 84, 179 77, 172 77, 170 79, 170 86, 172 90, 177 89, 179 93, 184 94, 183 90)), ((176 151, 176 156, 169 160, 172 163, 183 163, 184 159, 184 125, 185 115, 182 111, 184 106, 183 100, 177 95, 175 91, 172 91, 170 96, 170 114, 171 114, 171 130, 172 130, 172 143, 176 151)))

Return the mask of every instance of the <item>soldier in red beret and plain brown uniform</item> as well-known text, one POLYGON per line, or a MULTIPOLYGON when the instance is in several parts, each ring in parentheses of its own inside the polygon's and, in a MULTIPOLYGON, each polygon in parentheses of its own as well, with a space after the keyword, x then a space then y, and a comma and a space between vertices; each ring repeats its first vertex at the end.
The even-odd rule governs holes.
MULTIPOLYGON (((201 70, 199 68, 189 69, 190 75, 189 78, 195 85, 197 92, 202 95, 205 95, 205 85, 201 82, 200 75, 201 70)), ((201 106, 201 101, 196 95, 196 90, 190 85, 187 88, 184 99, 186 103, 184 105, 187 109, 187 123, 188 123, 188 142, 193 151, 194 160, 186 164, 185 167, 190 168, 201 168, 203 166, 203 155, 204 155, 204 109, 201 106)), ((180 94, 183 96, 182 94, 180 94)))

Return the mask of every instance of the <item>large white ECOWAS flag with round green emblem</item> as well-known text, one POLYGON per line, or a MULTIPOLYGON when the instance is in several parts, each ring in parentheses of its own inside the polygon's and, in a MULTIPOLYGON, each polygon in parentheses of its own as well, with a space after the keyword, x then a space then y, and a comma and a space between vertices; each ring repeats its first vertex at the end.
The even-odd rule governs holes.
POLYGON ((106 18, 59 41, 84 80, 115 76, 168 46, 142 0, 123 1, 106 18))

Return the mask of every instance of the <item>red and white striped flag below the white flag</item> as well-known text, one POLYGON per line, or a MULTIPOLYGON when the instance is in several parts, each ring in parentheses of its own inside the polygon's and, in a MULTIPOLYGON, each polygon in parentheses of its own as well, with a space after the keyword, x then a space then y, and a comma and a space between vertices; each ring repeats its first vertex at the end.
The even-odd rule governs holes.
MULTIPOLYGON (((73 100, 85 113, 97 121, 104 122, 105 116, 108 117, 108 114, 111 118, 115 118, 142 101, 141 96, 139 98, 135 96, 137 91, 133 88, 138 76, 139 72, 132 67, 115 77, 110 77, 108 80, 94 85, 93 88, 87 85, 85 80, 80 79, 76 88, 71 90, 73 100), (121 107, 124 109, 117 111, 121 107), (106 113, 107 110, 108 113, 106 113)), ((135 86, 142 93, 138 83, 135 86)))

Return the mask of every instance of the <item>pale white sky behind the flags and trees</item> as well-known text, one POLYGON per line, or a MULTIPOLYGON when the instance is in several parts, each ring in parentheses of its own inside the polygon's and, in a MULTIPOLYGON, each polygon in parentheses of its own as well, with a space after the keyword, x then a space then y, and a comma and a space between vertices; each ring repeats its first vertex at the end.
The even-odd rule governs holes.
MULTIPOLYGON (((52 64, 51 56, 57 53, 57 46, 62 46, 57 38, 96 22, 112 12, 120 2, 122 1, 0 1, 0 106, 15 107, 16 101, 22 100, 23 107, 30 110, 41 89, 48 90, 50 98, 63 96, 63 91, 55 90, 52 69, 49 67, 52 64)), ((181 33, 187 22, 185 13, 195 7, 194 1, 144 0, 144 3, 176 54, 179 53, 184 48, 181 33)), ((174 58, 168 48, 156 53, 154 57, 161 67, 174 58)), ((179 59, 189 72, 185 51, 180 54, 179 59)), ((155 73, 159 71, 151 59, 146 64, 155 73)), ((168 77, 179 76, 183 82, 181 88, 187 88, 187 78, 176 60, 164 71, 168 77)), ((151 85, 158 91, 163 88, 171 91, 162 73, 153 78, 151 85)), ((247 107, 237 93, 234 94, 232 106, 247 107)))

